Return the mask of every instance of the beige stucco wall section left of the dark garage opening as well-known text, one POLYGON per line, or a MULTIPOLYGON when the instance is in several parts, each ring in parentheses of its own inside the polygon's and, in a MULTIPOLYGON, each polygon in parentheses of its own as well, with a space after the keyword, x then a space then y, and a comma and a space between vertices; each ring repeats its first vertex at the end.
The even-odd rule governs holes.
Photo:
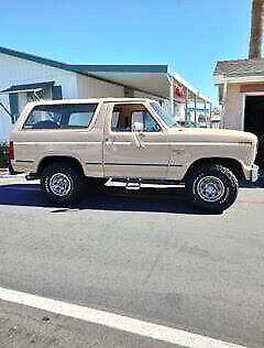
POLYGON ((229 84, 223 110, 223 126, 227 129, 243 129, 243 94, 240 84, 229 84))

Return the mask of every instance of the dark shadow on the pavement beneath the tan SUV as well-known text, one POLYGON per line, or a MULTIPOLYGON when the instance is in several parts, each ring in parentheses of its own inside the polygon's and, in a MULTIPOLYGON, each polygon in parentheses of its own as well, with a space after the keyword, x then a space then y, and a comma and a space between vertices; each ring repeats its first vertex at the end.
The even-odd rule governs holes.
POLYGON ((185 197, 184 187, 177 188, 142 188, 127 192, 124 189, 103 188, 88 189, 87 198, 77 205, 56 207, 48 202, 34 184, 9 184, 0 186, 1 206, 24 206, 52 208, 51 213, 69 213, 72 210, 120 210, 148 211, 188 215, 216 215, 216 213, 200 211, 185 197))

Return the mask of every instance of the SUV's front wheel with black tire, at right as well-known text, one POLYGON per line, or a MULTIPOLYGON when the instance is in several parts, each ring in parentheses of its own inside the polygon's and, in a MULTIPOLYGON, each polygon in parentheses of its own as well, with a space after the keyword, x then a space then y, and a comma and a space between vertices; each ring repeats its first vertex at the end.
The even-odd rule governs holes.
POLYGON ((196 206, 208 211, 222 213, 234 203, 239 183, 234 174, 223 165, 205 164, 188 174, 185 187, 196 206), (206 186, 208 182, 213 185, 206 186))

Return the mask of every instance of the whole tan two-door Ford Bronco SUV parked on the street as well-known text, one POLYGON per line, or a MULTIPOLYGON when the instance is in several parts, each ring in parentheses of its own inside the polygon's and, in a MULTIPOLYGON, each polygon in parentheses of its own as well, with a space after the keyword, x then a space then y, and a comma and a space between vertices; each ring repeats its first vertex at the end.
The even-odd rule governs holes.
POLYGON ((183 183, 193 203, 222 211, 240 177, 256 181, 257 140, 242 131, 186 129, 151 99, 46 100, 26 105, 11 134, 14 172, 41 180, 56 204, 80 200, 87 182, 183 183))

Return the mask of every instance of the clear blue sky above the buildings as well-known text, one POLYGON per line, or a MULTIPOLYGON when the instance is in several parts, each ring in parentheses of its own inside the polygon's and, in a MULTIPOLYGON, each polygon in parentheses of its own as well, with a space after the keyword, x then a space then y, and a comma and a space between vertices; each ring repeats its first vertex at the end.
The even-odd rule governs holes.
POLYGON ((167 64, 215 105, 215 63, 248 57, 250 0, 0 0, 0 46, 68 64, 167 64))

